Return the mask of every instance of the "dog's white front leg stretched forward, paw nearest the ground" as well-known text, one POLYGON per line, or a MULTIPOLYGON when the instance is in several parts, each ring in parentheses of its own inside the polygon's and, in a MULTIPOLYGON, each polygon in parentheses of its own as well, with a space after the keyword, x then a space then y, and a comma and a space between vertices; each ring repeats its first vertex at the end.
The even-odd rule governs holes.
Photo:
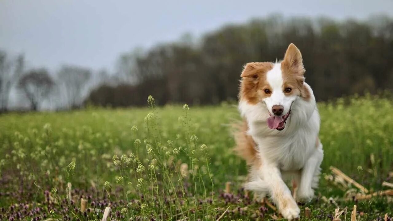
POLYGON ((263 180, 284 218, 292 220, 299 217, 300 209, 281 177, 276 164, 264 164, 261 168, 263 180))

